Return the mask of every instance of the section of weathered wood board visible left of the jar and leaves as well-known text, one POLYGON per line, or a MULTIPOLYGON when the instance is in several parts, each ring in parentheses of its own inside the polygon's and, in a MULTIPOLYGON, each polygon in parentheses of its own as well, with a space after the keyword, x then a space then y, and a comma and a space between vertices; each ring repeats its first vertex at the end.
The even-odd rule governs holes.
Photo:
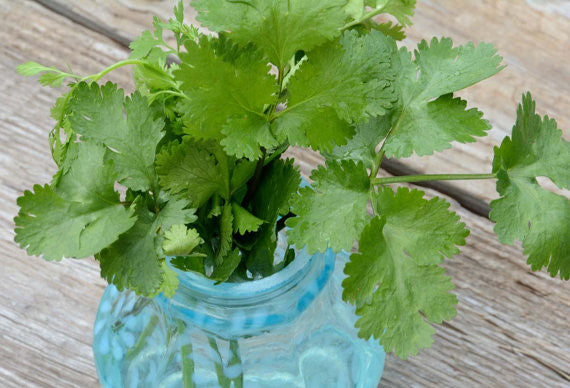
MULTIPOLYGON (((84 74, 127 55, 107 38, 29 1, 0 1, 0 386, 96 387, 92 327, 105 282, 94 261, 47 263, 13 242, 16 198, 49 182, 49 109, 61 90, 16 73, 35 60, 84 74), (25 26, 25 27, 23 27, 25 26)), ((132 87, 128 70, 111 75, 132 87)))

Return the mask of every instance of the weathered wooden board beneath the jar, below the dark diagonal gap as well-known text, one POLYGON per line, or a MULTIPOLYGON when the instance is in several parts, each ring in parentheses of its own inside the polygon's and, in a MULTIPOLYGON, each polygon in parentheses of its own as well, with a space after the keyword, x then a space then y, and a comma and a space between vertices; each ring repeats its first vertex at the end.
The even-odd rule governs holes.
MULTIPOLYGON (((111 15, 119 3, 94 4, 111 15)), ((0 36, 8 37, 0 40, 0 386, 97 386, 91 330, 105 286, 97 263, 46 263, 13 242, 16 198, 55 170, 46 138, 53 125, 49 107, 59 94, 14 68, 27 60, 68 62, 88 74, 127 51, 116 39, 27 0, 0 0, 0 14, 0 36)), ((132 87, 127 70, 111 77, 132 87)), ((305 174, 320 161, 291 153, 305 174)), ((570 284, 531 273, 520 246, 502 246, 486 218, 456 202, 452 207, 472 230, 462 254, 446 263, 457 285, 458 317, 439 326, 433 347, 419 356, 389 357, 381 385, 570 386, 570 284)))

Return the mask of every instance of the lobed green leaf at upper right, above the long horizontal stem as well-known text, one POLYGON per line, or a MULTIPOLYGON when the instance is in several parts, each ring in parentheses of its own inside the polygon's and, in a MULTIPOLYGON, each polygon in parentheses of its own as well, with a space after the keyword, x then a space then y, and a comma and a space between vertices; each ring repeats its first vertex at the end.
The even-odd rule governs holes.
POLYGON ((452 93, 498 73, 502 58, 491 44, 453 47, 449 38, 422 41, 415 60, 402 48, 394 54, 398 69, 399 104, 393 115, 386 156, 431 155, 451 147, 452 141, 472 142, 490 129, 482 113, 466 110, 466 102, 452 93), (435 99, 435 100, 434 100, 435 99))

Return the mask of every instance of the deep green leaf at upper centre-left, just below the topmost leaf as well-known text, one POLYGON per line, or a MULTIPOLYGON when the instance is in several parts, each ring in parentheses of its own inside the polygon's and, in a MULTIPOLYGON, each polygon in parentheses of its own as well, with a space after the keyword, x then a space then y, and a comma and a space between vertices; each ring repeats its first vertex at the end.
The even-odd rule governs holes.
POLYGON ((241 136, 242 143, 251 148, 245 155, 260 155, 259 147, 272 143, 263 123, 264 107, 274 102, 278 92, 267 60, 253 46, 237 47, 225 35, 188 41, 186 50, 174 76, 188 96, 181 105, 187 113, 188 132, 217 140, 230 136, 231 140, 223 143, 226 152, 243 156, 233 144, 241 136))

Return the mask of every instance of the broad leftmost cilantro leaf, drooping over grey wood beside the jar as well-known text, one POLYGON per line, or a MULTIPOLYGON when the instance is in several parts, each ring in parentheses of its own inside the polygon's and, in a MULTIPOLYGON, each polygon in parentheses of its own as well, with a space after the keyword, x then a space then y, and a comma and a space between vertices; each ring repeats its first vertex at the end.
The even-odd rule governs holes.
POLYGON ((18 198, 15 241, 46 260, 83 258, 105 248, 135 223, 114 190, 116 173, 103 147, 79 143, 78 157, 54 187, 34 186, 18 198))

